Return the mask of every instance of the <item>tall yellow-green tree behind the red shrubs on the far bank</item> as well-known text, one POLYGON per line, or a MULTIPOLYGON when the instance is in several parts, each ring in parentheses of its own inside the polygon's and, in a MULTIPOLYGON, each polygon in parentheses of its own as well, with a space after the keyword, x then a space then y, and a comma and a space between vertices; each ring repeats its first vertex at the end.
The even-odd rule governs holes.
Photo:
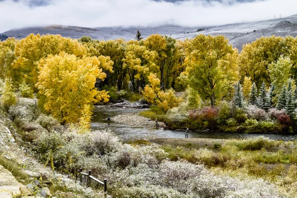
POLYGON ((186 50, 190 88, 202 99, 209 99, 212 106, 216 99, 231 95, 233 85, 239 79, 237 49, 233 49, 222 35, 198 35, 189 41, 186 50))

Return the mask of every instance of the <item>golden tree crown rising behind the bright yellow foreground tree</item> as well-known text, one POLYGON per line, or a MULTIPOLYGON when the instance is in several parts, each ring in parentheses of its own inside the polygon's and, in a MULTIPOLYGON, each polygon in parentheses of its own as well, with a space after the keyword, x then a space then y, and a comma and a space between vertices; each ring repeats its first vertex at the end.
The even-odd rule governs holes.
POLYGON ((25 82, 34 88, 38 81, 38 61, 49 54, 55 55, 62 51, 77 57, 83 57, 87 53, 87 49, 77 40, 60 35, 30 34, 15 46, 14 68, 21 69, 25 82))

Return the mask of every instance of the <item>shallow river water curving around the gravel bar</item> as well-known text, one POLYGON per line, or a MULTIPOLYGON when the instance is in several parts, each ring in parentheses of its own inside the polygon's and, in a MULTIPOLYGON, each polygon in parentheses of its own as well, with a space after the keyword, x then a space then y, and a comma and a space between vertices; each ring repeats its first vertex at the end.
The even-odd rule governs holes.
MULTIPOLYGON (((110 130, 118 135, 124 142, 137 140, 150 140, 154 138, 184 138, 185 132, 177 132, 149 127, 129 126, 110 122, 108 125, 107 117, 112 117, 121 113, 139 113, 144 109, 126 108, 106 108, 95 106, 91 128, 94 130, 110 130)), ((152 121, 153 122, 153 121, 152 121)), ((297 135, 278 135, 278 134, 240 134, 240 133, 218 133, 218 132, 190 132, 189 138, 211 138, 211 139, 247 139, 263 136, 271 140, 297 140, 297 135)))

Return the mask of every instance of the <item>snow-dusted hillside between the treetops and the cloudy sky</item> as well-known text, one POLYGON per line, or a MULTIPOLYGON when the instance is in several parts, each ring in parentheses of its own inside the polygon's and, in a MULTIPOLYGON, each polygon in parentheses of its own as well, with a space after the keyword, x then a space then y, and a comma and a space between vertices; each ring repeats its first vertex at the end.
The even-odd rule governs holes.
POLYGON ((110 40, 123 38, 131 40, 135 38, 139 29, 144 38, 151 34, 168 35, 176 39, 194 38, 198 34, 206 35, 225 35, 234 47, 241 51, 243 44, 255 41, 262 36, 297 36, 297 15, 281 19, 265 21, 228 24, 218 27, 205 28, 203 31, 196 32, 201 27, 182 27, 174 25, 163 25, 157 27, 98 27, 85 28, 77 26, 47 26, 47 27, 28 27, 21 29, 11 29, 1 34, 18 39, 25 38, 30 33, 34 34, 60 34, 63 37, 80 38, 90 36, 93 39, 110 40))

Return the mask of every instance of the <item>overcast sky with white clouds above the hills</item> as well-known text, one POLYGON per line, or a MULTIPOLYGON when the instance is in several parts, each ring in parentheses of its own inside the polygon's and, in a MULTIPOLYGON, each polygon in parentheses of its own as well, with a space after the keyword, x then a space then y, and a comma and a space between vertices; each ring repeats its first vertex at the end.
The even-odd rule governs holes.
POLYGON ((53 24, 213 26, 290 16, 296 7, 297 0, 0 0, 0 32, 53 24))

